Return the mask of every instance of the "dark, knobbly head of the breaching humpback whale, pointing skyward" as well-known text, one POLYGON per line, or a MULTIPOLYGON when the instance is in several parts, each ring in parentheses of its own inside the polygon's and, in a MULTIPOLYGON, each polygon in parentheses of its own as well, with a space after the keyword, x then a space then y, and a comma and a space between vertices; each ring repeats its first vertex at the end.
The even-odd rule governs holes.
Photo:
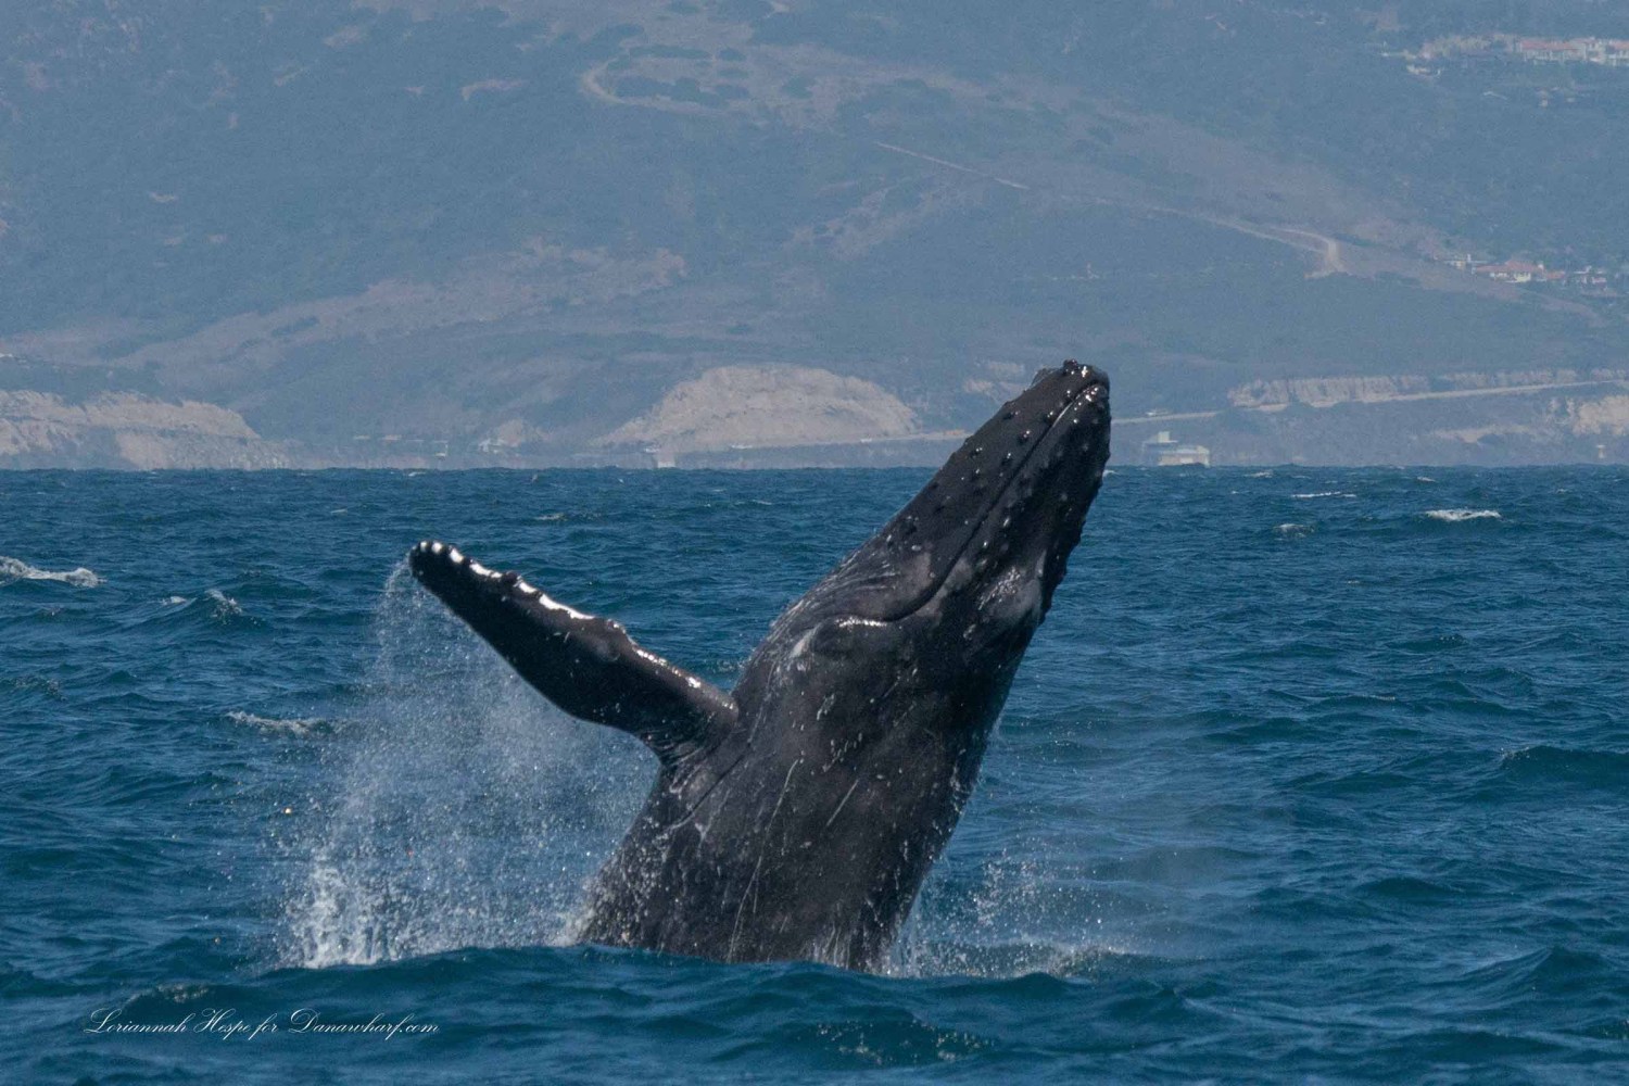
POLYGON ((1043 370, 777 620, 754 663, 876 668, 902 676, 894 689, 919 700, 971 684, 969 698, 999 705, 1064 580, 1108 456, 1108 378, 1074 361, 1043 370))

